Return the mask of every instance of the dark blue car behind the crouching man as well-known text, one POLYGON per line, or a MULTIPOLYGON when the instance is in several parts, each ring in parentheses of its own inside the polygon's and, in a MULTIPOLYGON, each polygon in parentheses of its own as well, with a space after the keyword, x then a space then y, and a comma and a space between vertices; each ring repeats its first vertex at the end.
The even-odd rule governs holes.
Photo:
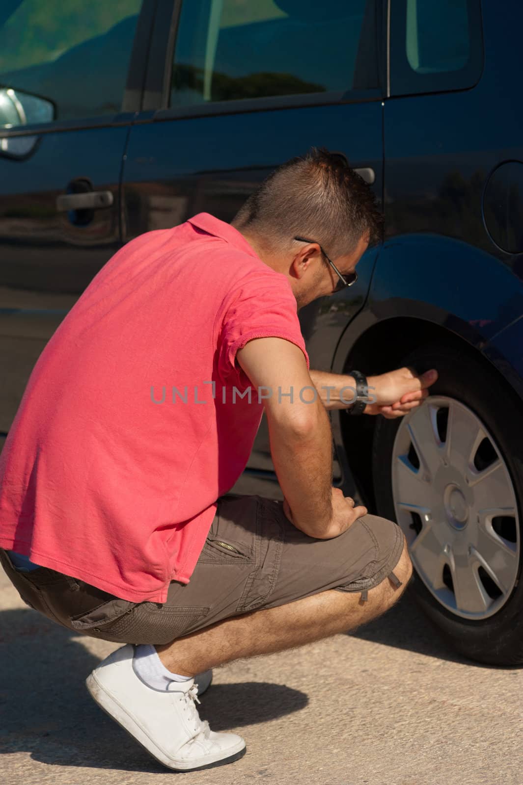
MULTIPOLYGON (((455 648, 523 663, 521 29, 515 0, 2 2, 3 435, 119 246, 343 152, 386 240, 300 312, 311 367, 440 376, 400 420, 332 414, 336 481, 404 529, 455 648)), ((247 480, 279 492, 264 424, 247 480)))

